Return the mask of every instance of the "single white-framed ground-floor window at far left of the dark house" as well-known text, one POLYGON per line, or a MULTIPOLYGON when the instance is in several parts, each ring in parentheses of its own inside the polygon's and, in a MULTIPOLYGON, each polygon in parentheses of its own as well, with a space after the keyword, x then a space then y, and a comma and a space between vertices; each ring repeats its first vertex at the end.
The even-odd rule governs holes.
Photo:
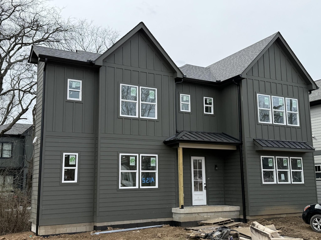
POLYGON ((64 153, 62 164, 62 182, 77 182, 78 153, 64 153))

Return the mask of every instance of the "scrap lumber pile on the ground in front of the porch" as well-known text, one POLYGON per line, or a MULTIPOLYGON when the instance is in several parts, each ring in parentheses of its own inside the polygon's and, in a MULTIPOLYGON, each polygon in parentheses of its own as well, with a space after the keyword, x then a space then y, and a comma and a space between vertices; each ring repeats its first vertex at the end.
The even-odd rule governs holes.
MULTIPOLYGON (((191 233, 187 234, 189 237, 194 237, 203 240, 203 237, 207 233, 215 232, 218 228, 222 226, 225 226, 227 228, 237 227, 240 225, 240 222, 234 222, 234 220, 230 218, 214 218, 199 221, 198 224, 202 226, 188 227, 185 229, 190 230, 191 233)), ((239 234, 237 232, 232 231, 230 233, 230 236, 233 237, 233 240, 239 240, 239 234)))

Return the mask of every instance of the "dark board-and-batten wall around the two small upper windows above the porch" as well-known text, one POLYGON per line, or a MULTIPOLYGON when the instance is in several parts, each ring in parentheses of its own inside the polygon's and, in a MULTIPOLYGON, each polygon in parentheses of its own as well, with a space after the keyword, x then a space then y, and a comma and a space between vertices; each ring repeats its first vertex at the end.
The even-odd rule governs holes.
POLYGON ((176 86, 177 130, 217 132, 217 108, 219 91, 209 85, 195 84, 188 81, 176 86), (190 112, 180 110, 180 94, 190 95, 190 112), (204 97, 213 98, 213 114, 204 113, 204 97))

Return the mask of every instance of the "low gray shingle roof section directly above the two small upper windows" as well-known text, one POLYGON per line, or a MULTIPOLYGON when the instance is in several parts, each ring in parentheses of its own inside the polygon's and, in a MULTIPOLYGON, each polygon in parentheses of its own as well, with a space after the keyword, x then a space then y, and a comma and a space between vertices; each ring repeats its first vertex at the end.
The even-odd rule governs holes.
POLYGON ((185 64, 179 68, 188 78, 215 82, 216 78, 210 68, 185 64))

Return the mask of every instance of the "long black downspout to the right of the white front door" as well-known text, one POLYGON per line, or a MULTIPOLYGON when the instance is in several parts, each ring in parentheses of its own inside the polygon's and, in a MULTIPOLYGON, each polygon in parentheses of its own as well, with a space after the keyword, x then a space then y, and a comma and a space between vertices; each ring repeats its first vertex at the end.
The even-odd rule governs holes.
POLYGON ((243 222, 246 222, 246 207, 245 207, 245 188, 244 188, 244 168, 243 168, 243 148, 242 148, 242 119, 241 119, 241 92, 240 85, 235 82, 235 79, 232 82, 238 86, 238 108, 239 108, 239 155, 240 155, 240 168, 241 168, 241 188, 242 188, 242 205, 243 205, 243 222))

